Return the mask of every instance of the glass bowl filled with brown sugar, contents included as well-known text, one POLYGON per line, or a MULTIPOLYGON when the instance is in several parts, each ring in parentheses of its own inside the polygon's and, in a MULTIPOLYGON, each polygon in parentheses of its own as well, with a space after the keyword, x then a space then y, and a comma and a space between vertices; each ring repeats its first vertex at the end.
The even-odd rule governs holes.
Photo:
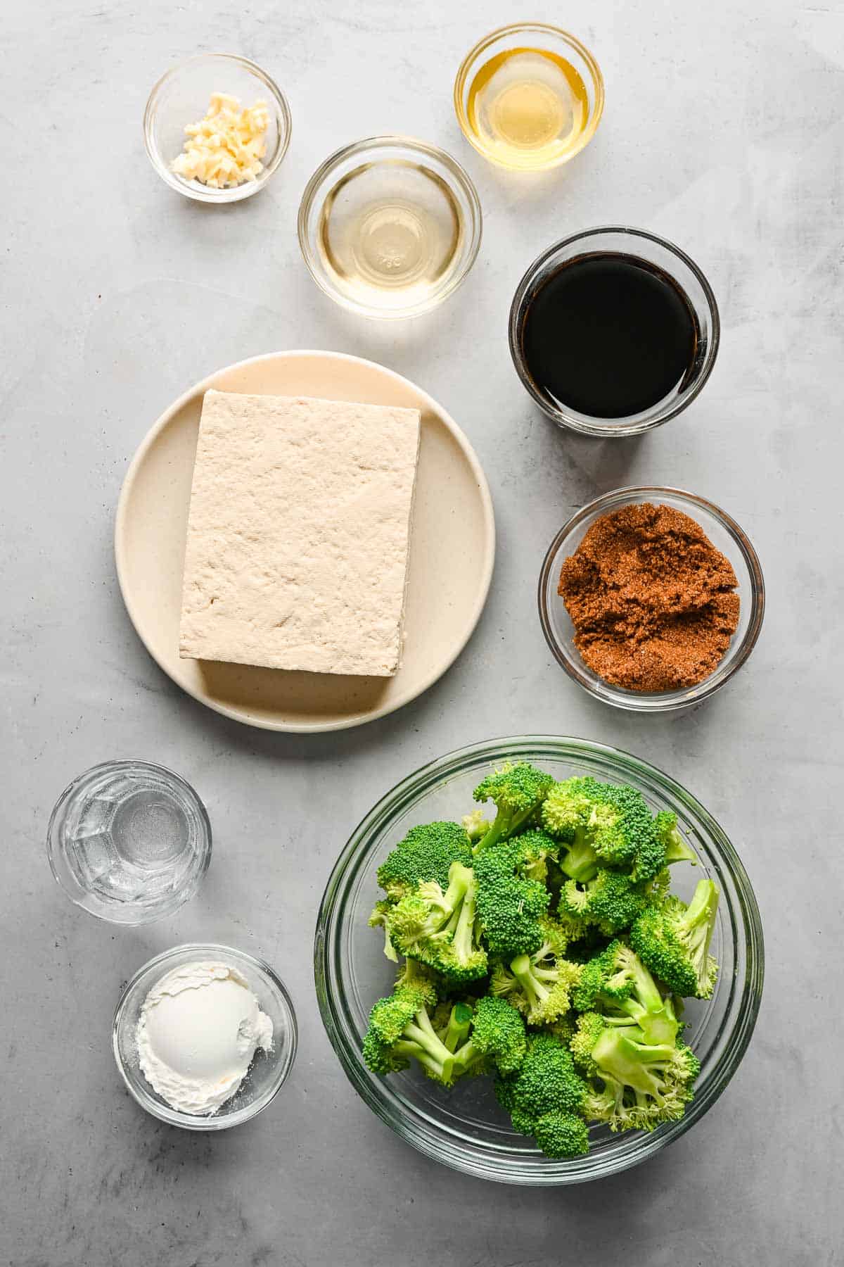
POLYGON ((635 712, 700 703, 745 663, 764 614, 750 540, 706 498, 621 488, 590 502, 552 541, 539 618, 586 691, 635 712))

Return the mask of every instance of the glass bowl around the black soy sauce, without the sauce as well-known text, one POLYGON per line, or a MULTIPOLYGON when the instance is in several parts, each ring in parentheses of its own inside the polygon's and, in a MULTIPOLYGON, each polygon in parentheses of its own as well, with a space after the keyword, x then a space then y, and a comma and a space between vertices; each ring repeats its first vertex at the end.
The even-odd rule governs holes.
POLYGON ((712 288, 695 261, 680 247, 654 233, 620 226, 587 229, 549 246, 525 272, 510 307, 510 355, 523 385, 543 413, 547 413, 559 427, 568 427, 585 436, 600 436, 602 440, 616 436, 638 436, 653 427, 662 426, 663 422, 668 422, 669 418, 674 418, 686 409, 712 372, 720 332, 721 323, 712 288), (593 418, 577 413, 548 395, 530 376, 521 346, 528 307, 544 281, 571 260, 606 252, 626 255, 634 260, 655 265, 683 291, 697 323, 697 350, 687 372, 667 397, 663 397, 649 409, 626 418, 593 418))

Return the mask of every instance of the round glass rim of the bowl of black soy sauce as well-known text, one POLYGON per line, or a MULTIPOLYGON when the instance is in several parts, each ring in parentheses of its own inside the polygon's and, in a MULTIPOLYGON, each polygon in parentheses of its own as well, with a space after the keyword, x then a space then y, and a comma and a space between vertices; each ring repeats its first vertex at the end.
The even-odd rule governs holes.
MULTIPOLYGON (((633 252, 630 252, 633 253, 633 252)), ((510 343, 510 356, 512 359, 512 365, 519 376, 519 381, 531 397, 534 403, 539 405, 542 412, 557 423, 559 427, 568 427, 569 431, 577 431, 582 436, 593 436, 600 440, 616 440, 626 436, 640 436, 647 431, 652 431, 654 427, 662 427, 666 422, 671 422, 676 418, 678 413, 687 409, 688 405, 697 399, 704 386, 706 385, 710 374, 715 366, 717 359, 717 351, 721 342, 721 318, 717 308, 717 300, 715 299, 715 293, 704 274, 698 264, 696 264, 682 247, 678 247, 674 242, 669 242, 668 238, 659 237, 658 233, 650 233, 648 229, 638 229, 630 224, 599 224, 593 228, 581 229, 578 233, 571 233, 568 237, 559 238, 553 242, 549 247, 545 247, 537 258, 528 265, 525 269, 519 285, 516 286, 515 294, 512 296, 512 303, 510 304, 510 317, 507 322, 507 340, 510 343), (558 251, 563 251, 566 247, 571 247, 577 242, 586 242, 590 238, 600 238, 606 233, 620 233, 631 241, 640 239, 644 242, 652 242, 662 250, 667 251, 668 255, 673 255, 678 258, 693 275, 695 280, 701 286, 704 291, 704 298, 706 300, 706 307, 710 313, 710 321, 712 323, 711 337, 709 346, 706 348, 706 357, 704 365, 701 366, 700 374, 695 383, 688 388, 687 393, 681 400, 676 400, 673 404, 666 409, 658 412, 653 418, 645 418, 639 422, 631 422, 628 424, 619 424, 611 418, 606 421, 601 419, 587 419, 580 414, 569 413, 562 407, 554 407, 547 400, 540 392, 537 390, 534 383, 528 374, 528 367, 525 365, 524 356, 521 355, 521 346, 519 341, 519 321, 524 310, 525 298, 530 290, 530 286, 537 279, 538 272, 542 266, 548 262, 558 251)))

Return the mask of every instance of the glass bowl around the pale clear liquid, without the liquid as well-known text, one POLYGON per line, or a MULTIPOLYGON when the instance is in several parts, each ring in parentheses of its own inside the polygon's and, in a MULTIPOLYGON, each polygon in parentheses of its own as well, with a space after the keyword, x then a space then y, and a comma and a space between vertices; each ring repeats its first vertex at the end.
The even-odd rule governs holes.
POLYGON ((369 137, 338 150, 307 181, 299 208, 299 245, 314 281, 340 307, 363 317, 382 319, 419 317, 437 308, 468 276, 481 247, 481 203, 468 175, 444 150, 413 137, 369 137), (342 190, 349 190, 358 175, 371 174, 378 165, 383 165, 385 169, 387 165, 423 169, 433 182, 431 188, 444 188, 456 210, 458 242, 452 261, 434 285, 407 284, 390 288, 377 286, 373 283, 368 289, 373 298, 377 296, 377 303, 368 303, 363 296, 364 291, 358 288, 356 293, 325 258, 325 250, 321 246, 323 220, 329 199, 334 199, 342 190))

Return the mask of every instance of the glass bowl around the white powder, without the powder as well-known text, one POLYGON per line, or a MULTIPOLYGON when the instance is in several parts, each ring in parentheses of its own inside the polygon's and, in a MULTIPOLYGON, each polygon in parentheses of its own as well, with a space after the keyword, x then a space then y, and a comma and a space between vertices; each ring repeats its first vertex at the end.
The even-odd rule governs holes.
POLYGON ((133 1100, 161 1121, 185 1130, 227 1130, 266 1109, 280 1091, 296 1055, 296 1014, 290 995, 270 964, 232 946, 191 944, 156 955, 132 978, 118 1003, 111 1026, 111 1047, 120 1076, 133 1100), (214 959, 235 968, 248 982, 261 1010, 272 1021, 272 1050, 258 1049, 240 1087, 215 1114, 180 1112, 158 1096, 138 1064, 135 1030, 144 1000, 156 982, 183 964, 214 959))

